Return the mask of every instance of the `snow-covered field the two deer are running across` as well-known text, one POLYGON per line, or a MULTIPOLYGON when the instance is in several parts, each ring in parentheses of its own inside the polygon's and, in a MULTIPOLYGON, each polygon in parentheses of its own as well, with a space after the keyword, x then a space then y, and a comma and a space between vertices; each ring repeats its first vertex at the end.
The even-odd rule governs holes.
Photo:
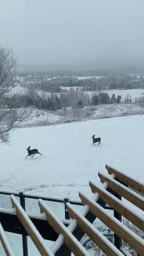
MULTIPOLYGON (((100 183, 98 171, 107 173, 105 163, 144 183, 143 126, 139 115, 15 130, 10 145, 0 144, 0 188, 55 197, 78 198, 79 190, 91 195, 89 180, 100 183), (93 134, 101 145, 91 146, 93 134), (42 156, 25 160, 29 145, 42 156)), ((62 204, 48 205, 64 217, 62 204)), ((8 196, 0 196, 0 207, 11 208, 8 196)), ((37 200, 27 199, 26 211, 38 213, 37 200)), ((22 255, 21 236, 7 235, 15 255, 22 255)), ((30 239, 28 244, 29 254, 39 255, 30 239)))

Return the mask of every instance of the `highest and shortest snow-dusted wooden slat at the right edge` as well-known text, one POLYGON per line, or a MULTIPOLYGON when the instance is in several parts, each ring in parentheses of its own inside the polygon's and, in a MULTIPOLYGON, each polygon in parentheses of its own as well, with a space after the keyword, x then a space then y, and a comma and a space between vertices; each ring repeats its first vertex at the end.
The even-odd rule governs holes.
POLYGON ((117 170, 113 169, 112 167, 110 167, 108 165, 105 165, 105 168, 107 169, 109 174, 113 173, 115 175, 116 179, 122 181, 123 183, 125 183, 129 187, 134 188, 135 190, 137 190, 141 194, 144 194, 144 184, 139 183, 139 181, 133 180, 129 176, 121 173, 120 171, 117 171, 117 170))

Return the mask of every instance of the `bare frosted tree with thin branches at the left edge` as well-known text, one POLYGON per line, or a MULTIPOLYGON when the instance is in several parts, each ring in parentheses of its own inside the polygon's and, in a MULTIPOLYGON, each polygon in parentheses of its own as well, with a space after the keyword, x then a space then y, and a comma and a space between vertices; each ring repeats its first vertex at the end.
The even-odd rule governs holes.
POLYGON ((14 129, 18 122, 31 118, 27 109, 16 109, 12 105, 4 105, 4 97, 17 86, 17 57, 12 48, 0 46, 0 142, 9 142, 9 131, 14 129))

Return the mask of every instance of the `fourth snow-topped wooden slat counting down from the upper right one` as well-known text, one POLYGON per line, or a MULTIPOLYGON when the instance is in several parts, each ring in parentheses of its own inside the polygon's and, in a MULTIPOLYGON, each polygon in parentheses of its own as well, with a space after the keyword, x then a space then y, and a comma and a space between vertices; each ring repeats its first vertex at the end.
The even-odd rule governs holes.
POLYGON ((144 253, 144 241, 138 235, 134 234, 130 229, 123 225, 113 216, 109 215, 98 203, 94 202, 79 193, 83 205, 88 205, 90 211, 98 217, 105 225, 107 225, 114 233, 118 235, 123 241, 125 241, 131 248, 133 248, 139 255, 144 253))

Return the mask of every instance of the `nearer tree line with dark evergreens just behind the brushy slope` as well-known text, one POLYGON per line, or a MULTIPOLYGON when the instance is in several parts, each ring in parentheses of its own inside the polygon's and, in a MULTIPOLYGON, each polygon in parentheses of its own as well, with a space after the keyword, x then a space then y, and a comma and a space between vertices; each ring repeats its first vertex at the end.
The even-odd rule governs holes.
POLYGON ((49 111, 56 111, 57 109, 66 110, 68 107, 72 108, 84 108, 85 106, 92 106, 97 104, 114 104, 121 103, 121 96, 116 97, 115 94, 109 97, 108 93, 100 92, 89 96, 82 91, 68 91, 66 93, 46 94, 39 95, 37 92, 26 94, 14 94, 12 96, 5 95, 3 100, 1 99, 0 107, 6 106, 10 108, 22 108, 22 107, 36 107, 38 109, 46 109, 49 111))

